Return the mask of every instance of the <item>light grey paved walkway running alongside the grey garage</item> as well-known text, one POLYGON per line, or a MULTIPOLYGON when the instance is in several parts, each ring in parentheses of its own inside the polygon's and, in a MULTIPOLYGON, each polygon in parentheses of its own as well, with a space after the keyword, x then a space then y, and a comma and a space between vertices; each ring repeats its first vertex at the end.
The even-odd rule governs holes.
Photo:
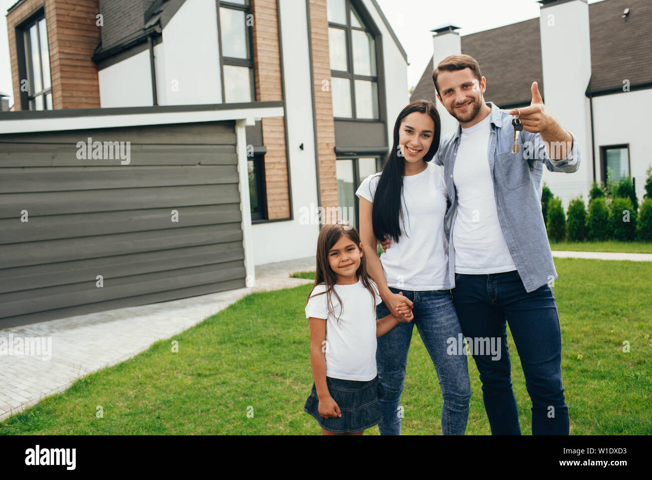
MULTIPOLYGON (((312 280, 289 278, 314 270, 315 257, 256 266, 256 285, 171 302, 76 315, 0 330, 14 345, 18 337, 52 340, 50 360, 35 355, 0 356, 0 420, 65 391, 72 383, 100 368, 123 362, 203 321, 254 291, 296 287, 312 280)), ((46 344, 47 346, 47 344, 46 344)), ((45 355, 46 357, 47 355, 45 355)))

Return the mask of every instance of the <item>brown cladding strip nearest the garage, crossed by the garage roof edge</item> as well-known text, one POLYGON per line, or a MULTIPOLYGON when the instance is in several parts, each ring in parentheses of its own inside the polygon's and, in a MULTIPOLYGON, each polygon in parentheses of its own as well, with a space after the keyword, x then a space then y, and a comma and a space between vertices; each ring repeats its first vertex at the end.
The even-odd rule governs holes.
MULTIPOLYGON (((254 16, 252 37, 256 100, 280 101, 283 99, 283 90, 276 0, 252 0, 251 12, 254 16)), ((265 153, 267 217, 289 218, 288 159, 284 118, 263 118, 261 123, 263 144, 267 147, 265 153)))

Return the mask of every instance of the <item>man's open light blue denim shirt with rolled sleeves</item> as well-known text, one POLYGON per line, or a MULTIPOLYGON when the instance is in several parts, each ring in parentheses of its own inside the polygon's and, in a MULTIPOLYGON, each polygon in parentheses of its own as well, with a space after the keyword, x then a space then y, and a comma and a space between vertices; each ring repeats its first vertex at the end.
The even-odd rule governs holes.
MULTIPOLYGON (((563 160, 548 156, 538 133, 522 131, 518 135, 519 153, 512 153, 514 129, 512 117, 491 102, 491 133, 489 136, 489 170, 494 181, 496 209, 505 242, 516 270, 527 292, 534 291, 557 278, 552 252, 541 214, 541 177, 543 164, 551 172, 575 172, 580 167, 577 139, 572 135, 572 151, 563 160)), ((448 284, 455 286, 455 250, 452 227, 457 216, 457 195, 452 172, 460 146, 461 125, 441 140, 432 160, 444 166, 444 178, 451 206, 444 218, 444 231, 449 242, 448 284)))

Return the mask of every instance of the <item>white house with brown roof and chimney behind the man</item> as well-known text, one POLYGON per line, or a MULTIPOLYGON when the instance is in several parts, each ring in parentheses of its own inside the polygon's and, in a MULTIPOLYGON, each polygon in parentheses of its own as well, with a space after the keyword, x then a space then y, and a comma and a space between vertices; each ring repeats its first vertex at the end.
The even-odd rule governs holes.
POLYGON ((434 29, 434 56, 411 99, 436 101, 445 129, 456 122, 436 100, 434 66, 467 54, 487 79, 484 99, 511 109, 529 105, 539 84, 546 109, 580 142, 582 164, 571 175, 550 173, 544 182, 565 205, 593 182, 631 176, 642 198, 652 165, 647 106, 652 105, 652 29, 649 0, 544 0, 541 17, 460 38, 454 25, 434 29))

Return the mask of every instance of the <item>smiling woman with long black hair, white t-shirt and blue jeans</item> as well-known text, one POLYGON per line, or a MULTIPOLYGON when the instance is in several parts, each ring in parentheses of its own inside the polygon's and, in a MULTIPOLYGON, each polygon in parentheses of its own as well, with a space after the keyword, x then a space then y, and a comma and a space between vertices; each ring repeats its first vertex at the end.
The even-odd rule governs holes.
POLYGON ((466 355, 464 351, 447 353, 449 339, 457 339, 462 329, 447 282, 443 167, 429 163, 439 147, 440 131, 439 114, 432 102, 410 103, 394 123, 394 145, 383 172, 368 176, 355 193, 360 199, 360 236, 368 271, 383 300, 376 315, 383 318, 392 313, 401 320, 400 312, 409 308, 414 314, 413 321, 403 320, 378 338, 378 378, 386 392, 380 400, 381 435, 400 434, 400 396, 413 325, 439 377, 442 433, 463 435, 469 415, 466 355), (384 236, 391 238, 391 248, 378 258, 376 239, 384 236))

